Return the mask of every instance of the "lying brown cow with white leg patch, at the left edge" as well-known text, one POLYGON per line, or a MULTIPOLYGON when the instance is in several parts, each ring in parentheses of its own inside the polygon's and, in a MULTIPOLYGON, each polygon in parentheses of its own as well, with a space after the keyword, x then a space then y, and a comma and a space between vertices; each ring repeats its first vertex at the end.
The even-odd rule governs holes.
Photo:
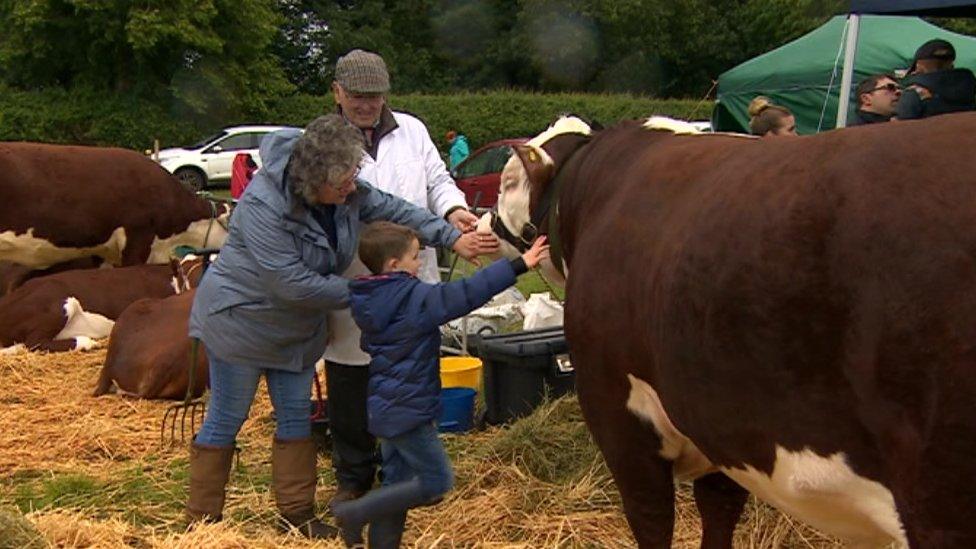
POLYGON ((0 348, 90 349, 132 302, 177 291, 170 265, 65 271, 28 280, 0 298, 0 348))

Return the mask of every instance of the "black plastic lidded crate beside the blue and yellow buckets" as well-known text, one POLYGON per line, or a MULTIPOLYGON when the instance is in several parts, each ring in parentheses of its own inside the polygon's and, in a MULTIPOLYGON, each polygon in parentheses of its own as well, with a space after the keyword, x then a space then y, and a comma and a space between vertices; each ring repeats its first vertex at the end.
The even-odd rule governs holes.
POLYGON ((526 416, 542 402, 575 388, 563 329, 545 328, 484 336, 485 421, 493 425, 526 416))

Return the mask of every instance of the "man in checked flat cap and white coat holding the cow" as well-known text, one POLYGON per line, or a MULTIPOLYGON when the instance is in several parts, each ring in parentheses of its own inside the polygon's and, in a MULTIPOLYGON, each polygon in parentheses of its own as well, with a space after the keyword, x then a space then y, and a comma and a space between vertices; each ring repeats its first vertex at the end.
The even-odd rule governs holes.
MULTIPOLYGON (((464 193, 455 185, 424 123, 390 110, 386 93, 390 77, 379 55, 355 49, 336 63, 332 92, 339 113, 363 132, 366 155, 359 177, 376 188, 428 208, 461 231, 473 230, 477 216, 468 211, 464 193)), ((488 235, 480 243, 484 253, 497 251, 488 235)), ((440 280, 435 250, 421 250, 419 278, 440 280)), ((369 271, 358 260, 344 273, 353 278, 369 271)), ((332 463, 336 491, 333 501, 359 497, 376 476, 376 439, 366 428, 366 388, 369 355, 359 348, 359 329, 349 309, 329 315, 330 340, 325 350, 332 463)))

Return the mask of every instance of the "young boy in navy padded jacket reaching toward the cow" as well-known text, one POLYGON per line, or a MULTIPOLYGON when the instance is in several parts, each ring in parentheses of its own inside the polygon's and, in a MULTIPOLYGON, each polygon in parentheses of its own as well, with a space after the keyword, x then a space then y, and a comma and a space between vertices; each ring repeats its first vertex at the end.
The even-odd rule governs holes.
POLYGON ((454 483, 437 437, 440 413, 441 324, 481 307, 515 284, 515 277, 548 257, 545 238, 512 261, 499 260, 469 278, 444 284, 417 279, 420 241, 408 227, 386 221, 369 225, 359 257, 373 276, 349 284, 352 316, 370 354, 367 417, 380 439, 383 486, 332 508, 350 547, 399 547, 407 510, 435 503, 454 483))

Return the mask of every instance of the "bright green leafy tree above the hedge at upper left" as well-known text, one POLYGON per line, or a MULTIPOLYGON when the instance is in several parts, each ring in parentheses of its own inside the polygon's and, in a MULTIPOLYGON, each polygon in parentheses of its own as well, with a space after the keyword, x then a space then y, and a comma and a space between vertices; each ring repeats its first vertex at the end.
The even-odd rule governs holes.
POLYGON ((268 52, 278 20, 273 0, 4 0, 2 76, 251 110, 288 89, 268 52))

